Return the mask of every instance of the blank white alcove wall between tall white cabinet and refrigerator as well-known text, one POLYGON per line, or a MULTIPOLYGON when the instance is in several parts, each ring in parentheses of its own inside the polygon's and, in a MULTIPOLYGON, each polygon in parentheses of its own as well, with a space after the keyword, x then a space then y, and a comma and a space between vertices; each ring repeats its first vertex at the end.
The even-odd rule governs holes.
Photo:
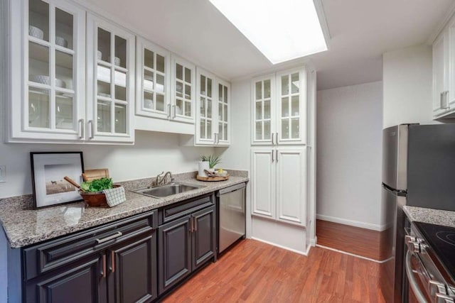
POLYGON ((318 219, 381 229, 382 82, 317 92, 318 219))

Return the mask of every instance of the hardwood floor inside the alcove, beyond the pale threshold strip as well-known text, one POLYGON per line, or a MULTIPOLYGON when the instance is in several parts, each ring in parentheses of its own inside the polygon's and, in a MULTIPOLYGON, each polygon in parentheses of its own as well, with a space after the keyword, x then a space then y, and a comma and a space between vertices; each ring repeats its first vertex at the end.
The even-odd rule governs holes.
POLYGON ((385 241, 385 231, 372 231, 329 221, 316 220, 318 244, 337 250, 361 255, 373 260, 385 260, 381 241, 385 241))

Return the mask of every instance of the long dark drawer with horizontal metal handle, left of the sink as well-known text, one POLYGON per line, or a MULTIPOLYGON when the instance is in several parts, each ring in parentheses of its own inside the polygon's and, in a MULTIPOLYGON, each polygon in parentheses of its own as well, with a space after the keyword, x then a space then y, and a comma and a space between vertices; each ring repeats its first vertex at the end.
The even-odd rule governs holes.
POLYGON ((156 211, 149 211, 25 248, 23 250, 24 277, 29 280, 103 250, 114 243, 126 241, 142 233, 151 233, 157 225, 156 211))

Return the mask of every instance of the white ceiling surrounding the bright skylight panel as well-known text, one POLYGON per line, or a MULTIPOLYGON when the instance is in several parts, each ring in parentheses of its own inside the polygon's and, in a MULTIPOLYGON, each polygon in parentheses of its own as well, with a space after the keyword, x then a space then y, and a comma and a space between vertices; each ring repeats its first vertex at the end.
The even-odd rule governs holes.
POLYGON ((329 50, 274 66, 208 0, 130 0, 127 5, 124 0, 80 1, 228 80, 310 58, 318 72, 318 89, 381 80, 382 53, 427 43, 455 2, 321 0, 329 50))

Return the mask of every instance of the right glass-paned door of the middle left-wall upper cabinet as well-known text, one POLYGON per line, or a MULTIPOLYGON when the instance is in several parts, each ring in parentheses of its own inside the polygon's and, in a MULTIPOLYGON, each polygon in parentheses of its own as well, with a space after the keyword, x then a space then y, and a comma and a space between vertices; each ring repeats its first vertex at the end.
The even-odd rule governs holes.
POLYGON ((196 67, 180 57, 172 57, 171 105, 169 119, 194 123, 196 104, 196 67))

